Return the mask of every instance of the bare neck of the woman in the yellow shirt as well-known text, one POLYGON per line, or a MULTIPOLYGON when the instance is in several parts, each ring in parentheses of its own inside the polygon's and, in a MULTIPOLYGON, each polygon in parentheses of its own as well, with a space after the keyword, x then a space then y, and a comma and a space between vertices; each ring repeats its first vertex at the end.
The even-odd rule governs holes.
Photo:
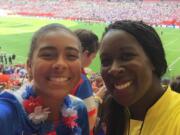
POLYGON ((150 87, 147 93, 139 101, 129 107, 131 118, 143 121, 148 109, 156 103, 165 92, 159 80, 154 79, 153 82, 154 85, 150 87))

